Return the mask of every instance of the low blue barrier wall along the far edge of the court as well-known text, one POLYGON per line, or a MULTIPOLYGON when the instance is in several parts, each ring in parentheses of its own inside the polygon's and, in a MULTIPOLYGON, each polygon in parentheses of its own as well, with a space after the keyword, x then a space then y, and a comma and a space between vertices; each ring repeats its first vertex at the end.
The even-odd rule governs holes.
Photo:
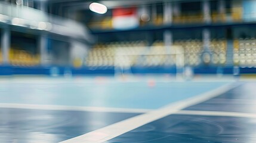
MULTIPOLYGON (((195 67, 192 69, 195 74, 233 74, 233 67, 195 67)), ((256 68, 239 68, 240 74, 256 74, 256 68)), ((121 72, 121 70, 116 70, 121 72)), ((133 74, 175 74, 181 73, 175 67, 131 67, 122 71, 133 74)), ((15 67, 0 66, 0 75, 45 75, 50 76, 57 74, 62 76, 66 73, 73 75, 109 75, 115 74, 114 67, 83 67, 75 69, 73 67, 15 67)))

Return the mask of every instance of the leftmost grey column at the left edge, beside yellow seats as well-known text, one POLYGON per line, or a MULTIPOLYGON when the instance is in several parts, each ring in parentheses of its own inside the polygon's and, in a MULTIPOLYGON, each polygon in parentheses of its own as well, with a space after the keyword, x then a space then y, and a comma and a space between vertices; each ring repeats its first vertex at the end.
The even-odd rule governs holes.
POLYGON ((3 64, 10 64, 10 60, 9 60, 10 43, 11 43, 11 32, 9 29, 3 29, 1 32, 3 64))

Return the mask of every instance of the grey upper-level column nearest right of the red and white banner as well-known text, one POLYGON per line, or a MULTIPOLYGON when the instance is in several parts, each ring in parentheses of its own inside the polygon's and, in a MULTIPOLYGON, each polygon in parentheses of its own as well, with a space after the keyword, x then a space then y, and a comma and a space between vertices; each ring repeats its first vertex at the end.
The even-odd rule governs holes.
POLYGON ((172 23, 172 3, 164 3, 164 24, 172 23))

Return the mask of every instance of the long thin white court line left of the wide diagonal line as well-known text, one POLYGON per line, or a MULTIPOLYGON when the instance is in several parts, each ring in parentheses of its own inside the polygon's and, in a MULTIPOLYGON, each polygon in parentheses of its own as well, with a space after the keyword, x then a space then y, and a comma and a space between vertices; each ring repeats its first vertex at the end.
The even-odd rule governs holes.
POLYGON ((108 108, 108 107, 79 107, 66 105, 35 105, 35 104, 10 104, 0 103, 0 108, 18 108, 35 110, 58 110, 58 111, 91 111, 107 113, 146 113, 148 109, 137 108, 108 108))

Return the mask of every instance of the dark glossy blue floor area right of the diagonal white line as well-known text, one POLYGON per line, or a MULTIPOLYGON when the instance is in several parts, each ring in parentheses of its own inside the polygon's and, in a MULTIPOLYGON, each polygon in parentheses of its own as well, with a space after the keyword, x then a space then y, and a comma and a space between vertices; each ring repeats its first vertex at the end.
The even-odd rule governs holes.
POLYGON ((106 142, 256 142, 255 86, 243 83, 106 142))

